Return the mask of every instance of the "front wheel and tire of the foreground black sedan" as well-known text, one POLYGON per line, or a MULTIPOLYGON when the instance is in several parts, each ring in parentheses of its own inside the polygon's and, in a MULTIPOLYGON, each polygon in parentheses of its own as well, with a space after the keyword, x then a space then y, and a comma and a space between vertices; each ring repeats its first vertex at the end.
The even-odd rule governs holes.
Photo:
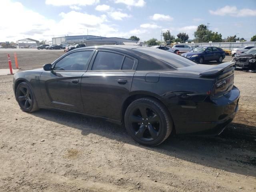
POLYGON ((16 100, 24 112, 31 113, 39 110, 32 88, 30 88, 27 82, 18 84, 16 89, 16 100))

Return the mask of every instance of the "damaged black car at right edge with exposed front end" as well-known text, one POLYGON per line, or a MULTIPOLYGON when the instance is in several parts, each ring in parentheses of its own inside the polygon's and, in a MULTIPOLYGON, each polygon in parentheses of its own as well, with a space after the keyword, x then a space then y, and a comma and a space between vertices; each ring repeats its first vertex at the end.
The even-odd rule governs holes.
POLYGON ((242 55, 235 56, 233 61, 236 62, 236 69, 256 72, 256 48, 252 48, 244 52, 242 55))

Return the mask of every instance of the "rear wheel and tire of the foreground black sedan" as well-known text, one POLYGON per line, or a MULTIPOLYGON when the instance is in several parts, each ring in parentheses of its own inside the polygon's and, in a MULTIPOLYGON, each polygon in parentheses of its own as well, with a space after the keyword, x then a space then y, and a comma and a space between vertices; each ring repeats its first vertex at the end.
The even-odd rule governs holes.
POLYGON ((130 136, 146 146, 157 146, 164 142, 173 127, 168 110, 154 98, 133 101, 126 109, 124 123, 130 136))

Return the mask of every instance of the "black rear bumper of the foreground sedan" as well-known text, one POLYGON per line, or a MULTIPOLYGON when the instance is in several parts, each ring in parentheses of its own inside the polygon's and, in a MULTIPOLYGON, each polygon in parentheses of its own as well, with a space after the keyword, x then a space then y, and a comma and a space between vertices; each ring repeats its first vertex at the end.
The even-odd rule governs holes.
POLYGON ((202 102, 180 102, 168 109, 177 134, 220 134, 238 111, 240 92, 235 86, 218 98, 208 96, 202 102))

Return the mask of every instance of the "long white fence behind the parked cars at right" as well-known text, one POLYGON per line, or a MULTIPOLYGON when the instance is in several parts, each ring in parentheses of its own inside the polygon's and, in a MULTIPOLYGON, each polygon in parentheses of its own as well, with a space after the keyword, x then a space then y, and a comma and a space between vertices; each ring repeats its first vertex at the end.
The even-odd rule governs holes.
POLYGON ((214 46, 214 47, 221 47, 223 49, 228 49, 228 50, 232 50, 234 48, 238 48, 238 47, 242 47, 242 46, 256 46, 256 42, 226 42, 226 43, 181 43, 180 45, 198 45, 198 46, 204 46, 204 47, 210 47, 210 46, 214 46))

